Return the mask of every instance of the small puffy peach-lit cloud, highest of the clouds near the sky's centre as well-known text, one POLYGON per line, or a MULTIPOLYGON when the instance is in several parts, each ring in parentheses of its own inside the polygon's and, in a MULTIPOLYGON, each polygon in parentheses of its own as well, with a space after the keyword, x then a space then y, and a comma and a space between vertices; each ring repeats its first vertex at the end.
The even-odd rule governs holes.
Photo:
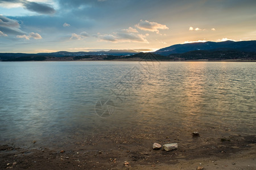
POLYGON ((143 31, 151 31, 159 33, 159 29, 169 29, 166 25, 155 23, 155 22, 149 22, 148 20, 140 20, 138 24, 135 25, 135 27, 143 30, 143 31))

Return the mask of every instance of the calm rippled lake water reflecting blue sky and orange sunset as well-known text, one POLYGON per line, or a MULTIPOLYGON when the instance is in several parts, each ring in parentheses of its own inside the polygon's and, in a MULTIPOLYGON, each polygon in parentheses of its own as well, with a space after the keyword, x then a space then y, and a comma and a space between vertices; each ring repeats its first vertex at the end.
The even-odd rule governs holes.
POLYGON ((255 62, 0 62, 0 144, 255 134, 255 73, 255 62))

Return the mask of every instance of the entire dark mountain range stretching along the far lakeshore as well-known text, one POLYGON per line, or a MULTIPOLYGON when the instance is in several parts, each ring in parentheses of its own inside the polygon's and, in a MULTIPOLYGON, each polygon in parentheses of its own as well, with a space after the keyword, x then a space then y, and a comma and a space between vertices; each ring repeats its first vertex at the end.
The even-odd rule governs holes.
POLYGON ((194 42, 176 44, 153 53, 135 50, 109 50, 98 52, 55 52, 55 53, 0 53, 0 61, 44 61, 44 60, 102 60, 154 58, 159 60, 190 59, 256 59, 256 41, 194 42), (146 58, 144 58, 146 57, 146 58))

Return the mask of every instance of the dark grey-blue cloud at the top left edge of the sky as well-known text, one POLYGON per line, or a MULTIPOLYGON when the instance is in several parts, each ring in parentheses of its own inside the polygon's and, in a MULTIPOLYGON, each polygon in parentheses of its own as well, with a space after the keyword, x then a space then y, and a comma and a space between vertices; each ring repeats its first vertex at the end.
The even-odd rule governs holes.
POLYGON ((32 11, 32 12, 38 12, 39 14, 54 14, 56 11, 53 7, 46 3, 37 3, 37 2, 31 2, 27 0, 0 0, 0 3, 9 4, 13 3, 15 5, 22 5, 23 8, 32 11))

